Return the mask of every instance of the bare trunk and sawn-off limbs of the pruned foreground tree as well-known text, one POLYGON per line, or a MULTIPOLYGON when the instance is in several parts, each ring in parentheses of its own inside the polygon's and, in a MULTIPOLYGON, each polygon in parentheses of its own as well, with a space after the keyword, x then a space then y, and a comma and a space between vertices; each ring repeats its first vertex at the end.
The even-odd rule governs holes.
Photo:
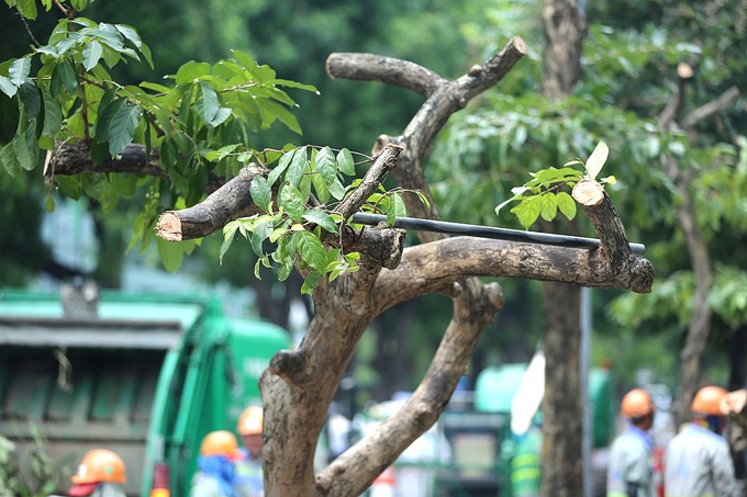
MULTIPOLYGON (((382 81, 426 98, 402 135, 380 137, 361 184, 334 211, 348 218, 392 170, 400 187, 420 189, 430 196, 422 162, 433 138, 453 113, 494 86, 525 54, 524 42, 514 37, 483 65, 454 81, 403 60, 367 54, 331 55, 327 71, 333 78, 382 81)), ((59 154, 70 153, 70 147, 62 147, 59 154)), ((63 162, 56 163, 57 174, 64 173, 63 162)), ((146 168, 149 162, 143 157, 141 165, 146 168)), ((98 166, 96 171, 103 172, 105 167, 98 166)), ((253 212, 246 179, 267 172, 247 168, 235 181, 218 187, 203 203, 164 213, 158 234, 171 240, 201 237, 253 212)), ((653 268, 631 252, 622 223, 601 185, 584 184, 575 191, 575 197, 597 228, 601 245, 595 249, 447 238, 432 233, 419 234, 421 244, 404 249, 405 233, 384 225, 361 233, 343 227, 338 236, 324 239, 328 245, 355 244, 361 255, 360 270, 320 283, 313 293, 315 315, 303 342, 297 350, 276 354, 260 380, 266 495, 359 495, 433 426, 465 371, 480 331, 503 305, 500 286, 483 284, 476 276, 649 292, 653 268), (454 316, 420 386, 399 413, 314 475, 316 440, 360 337, 383 310, 432 292, 451 298, 454 316)), ((426 208, 414 196, 405 202, 410 215, 437 217, 435 205, 426 208)))

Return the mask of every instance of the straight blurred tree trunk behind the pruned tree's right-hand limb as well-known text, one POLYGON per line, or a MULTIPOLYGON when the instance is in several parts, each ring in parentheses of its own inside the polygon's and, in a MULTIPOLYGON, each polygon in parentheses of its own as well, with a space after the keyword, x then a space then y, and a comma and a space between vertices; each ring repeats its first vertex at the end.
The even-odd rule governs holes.
MULTIPOLYGON (((547 39, 543 93, 560 100, 570 95, 581 76, 586 20, 573 0, 545 0, 543 19, 547 39)), ((546 358, 542 462, 544 497, 583 495, 580 303, 580 286, 543 284, 543 347, 546 358)))

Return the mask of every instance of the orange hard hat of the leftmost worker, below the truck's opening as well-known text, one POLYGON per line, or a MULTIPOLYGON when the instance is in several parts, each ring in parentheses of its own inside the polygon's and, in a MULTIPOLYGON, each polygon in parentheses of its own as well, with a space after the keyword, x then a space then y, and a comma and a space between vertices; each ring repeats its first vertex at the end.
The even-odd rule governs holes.
POLYGON ((75 484, 68 490, 71 497, 125 497, 122 485, 127 478, 122 458, 105 449, 86 452, 70 479, 75 484))

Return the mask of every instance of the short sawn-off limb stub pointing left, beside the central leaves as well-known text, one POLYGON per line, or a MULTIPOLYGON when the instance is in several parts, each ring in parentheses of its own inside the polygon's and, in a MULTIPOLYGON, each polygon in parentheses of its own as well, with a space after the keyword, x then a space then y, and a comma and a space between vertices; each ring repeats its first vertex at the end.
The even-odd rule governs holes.
POLYGON ((234 219, 260 213, 249 195, 249 184, 264 173, 257 166, 247 166, 199 204, 181 211, 166 211, 156 223, 157 235, 167 241, 202 238, 223 229, 234 219))

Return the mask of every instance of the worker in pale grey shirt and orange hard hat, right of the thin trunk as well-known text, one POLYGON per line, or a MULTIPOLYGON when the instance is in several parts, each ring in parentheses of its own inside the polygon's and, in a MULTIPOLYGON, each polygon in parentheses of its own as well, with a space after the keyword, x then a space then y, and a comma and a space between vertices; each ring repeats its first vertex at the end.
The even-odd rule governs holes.
POLYGON ((671 497, 737 495, 734 465, 721 436, 726 418, 721 402, 726 391, 706 386, 690 405, 693 421, 672 438, 664 462, 664 487, 671 497))

